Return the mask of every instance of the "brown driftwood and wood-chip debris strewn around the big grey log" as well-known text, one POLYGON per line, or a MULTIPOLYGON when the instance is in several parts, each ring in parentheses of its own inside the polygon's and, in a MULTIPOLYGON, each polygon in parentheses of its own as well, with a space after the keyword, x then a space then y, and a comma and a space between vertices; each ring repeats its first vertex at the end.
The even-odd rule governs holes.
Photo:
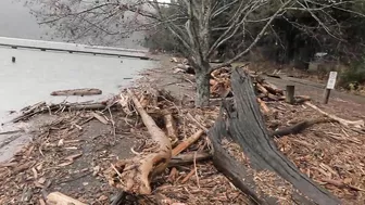
MULTIPOLYGON (((225 67, 212 73, 212 97, 234 95, 231 72, 225 67)), ((314 115, 310 98, 297 97, 295 104, 288 104, 282 89, 255 73, 251 77, 278 149, 339 198, 364 202, 362 121, 314 115)), ((211 162, 206 134, 219 107, 197 110, 191 104, 150 86, 125 90, 103 103, 25 108, 14 121, 48 113, 56 118, 12 161, 0 164, 0 204, 45 204, 55 191, 88 204, 249 204, 211 162), (116 194, 115 188, 129 193, 116 194)), ((230 142, 226 145, 239 151, 230 142)))

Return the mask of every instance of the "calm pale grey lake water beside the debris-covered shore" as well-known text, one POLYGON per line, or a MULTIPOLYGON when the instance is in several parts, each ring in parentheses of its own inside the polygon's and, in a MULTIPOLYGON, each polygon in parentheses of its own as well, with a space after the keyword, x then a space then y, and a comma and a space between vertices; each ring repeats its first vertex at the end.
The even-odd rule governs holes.
MULTIPOLYGON (((65 97, 50 97, 54 90, 98 88, 97 99, 118 92, 138 72, 151 68, 151 61, 118 59, 76 53, 43 52, 0 48, 0 113, 46 100, 61 102, 65 97), (16 62, 12 63, 12 56, 16 62)), ((88 101, 95 97, 72 97, 67 101, 88 101)), ((2 121, 2 120, 0 120, 2 121)))

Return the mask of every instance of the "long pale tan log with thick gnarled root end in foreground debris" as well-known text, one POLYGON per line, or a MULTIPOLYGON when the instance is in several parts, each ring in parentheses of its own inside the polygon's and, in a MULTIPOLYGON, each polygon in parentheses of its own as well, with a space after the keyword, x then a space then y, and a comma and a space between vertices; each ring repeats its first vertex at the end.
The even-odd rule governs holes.
POLYGON ((168 137, 159 128, 153 118, 147 114, 133 91, 128 90, 136 110, 151 134, 152 143, 140 155, 116 162, 108 170, 106 178, 113 187, 133 194, 151 194, 150 182, 162 172, 172 157, 172 144, 168 137))

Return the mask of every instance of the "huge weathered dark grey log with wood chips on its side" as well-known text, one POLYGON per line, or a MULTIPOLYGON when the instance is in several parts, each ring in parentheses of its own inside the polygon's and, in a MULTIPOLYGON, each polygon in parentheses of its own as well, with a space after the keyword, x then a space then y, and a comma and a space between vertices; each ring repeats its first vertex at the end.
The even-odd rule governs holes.
POLYGON ((215 167, 256 204, 340 204, 277 150, 249 75, 236 69, 231 82, 235 104, 223 105, 209 132, 215 167))

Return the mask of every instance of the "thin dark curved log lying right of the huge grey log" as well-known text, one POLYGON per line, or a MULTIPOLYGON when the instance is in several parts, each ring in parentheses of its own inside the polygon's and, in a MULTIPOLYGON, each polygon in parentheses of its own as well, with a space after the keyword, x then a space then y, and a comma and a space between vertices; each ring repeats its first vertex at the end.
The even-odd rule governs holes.
POLYGON ((335 121, 335 120, 329 119, 329 118, 303 120, 303 121, 300 121, 300 123, 298 123, 293 126, 273 131, 270 133, 270 136, 279 138, 279 137, 284 137, 284 136, 295 134, 295 133, 300 133, 304 129, 306 129, 306 128, 309 128, 309 127, 311 127, 315 124, 325 124, 325 123, 331 123, 331 121, 335 121))

